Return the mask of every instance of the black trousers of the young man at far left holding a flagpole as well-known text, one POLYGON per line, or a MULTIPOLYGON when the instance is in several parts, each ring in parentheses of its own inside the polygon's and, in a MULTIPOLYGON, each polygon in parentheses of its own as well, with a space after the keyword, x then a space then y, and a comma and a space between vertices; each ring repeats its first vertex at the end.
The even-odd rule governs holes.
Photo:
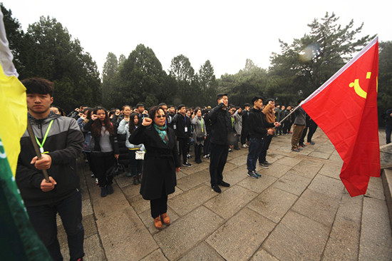
POLYGON ((78 260, 84 256, 82 195, 80 191, 75 191, 71 196, 57 203, 26 207, 26 209, 31 224, 54 261, 63 260, 57 239, 56 213, 60 215, 66 230, 71 260, 78 260))

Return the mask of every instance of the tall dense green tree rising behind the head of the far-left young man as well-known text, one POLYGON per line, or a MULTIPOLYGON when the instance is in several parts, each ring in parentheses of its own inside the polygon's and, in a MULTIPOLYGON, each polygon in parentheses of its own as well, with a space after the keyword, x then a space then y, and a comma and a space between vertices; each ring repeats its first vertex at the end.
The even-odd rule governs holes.
POLYGON ((70 111, 81 104, 94 106, 100 103, 96 63, 61 23, 41 16, 38 22, 29 26, 26 35, 35 44, 25 53, 24 75, 53 81, 54 104, 70 111))

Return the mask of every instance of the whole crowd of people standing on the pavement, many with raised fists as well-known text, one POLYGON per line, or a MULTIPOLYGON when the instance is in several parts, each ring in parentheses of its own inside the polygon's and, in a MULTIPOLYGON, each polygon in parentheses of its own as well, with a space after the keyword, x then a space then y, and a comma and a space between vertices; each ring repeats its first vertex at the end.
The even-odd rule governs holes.
POLYGON ((76 173, 76 158, 82 151, 103 198, 114 192, 113 165, 125 165, 125 175, 133 178, 134 185, 140 184, 140 194, 150 200, 154 225, 160 229, 170 225, 167 195, 174 193, 176 173, 181 168, 209 160, 212 190, 221 193, 220 187, 230 186, 223 171, 232 150, 249 150, 247 175, 259 178, 257 162, 262 168, 272 165, 267 161, 272 138, 292 134, 294 152, 314 145, 311 137, 316 123, 300 106, 294 110, 277 105, 271 98, 264 103, 262 97, 255 96, 251 103, 234 106, 227 93, 220 93, 213 108, 160 103, 147 110, 139 103, 110 110, 81 106, 66 115, 52 105, 53 83, 41 78, 23 83, 29 121, 42 155, 34 155, 33 141, 25 133, 16 182, 31 222, 53 260, 62 259, 56 213, 66 227, 71 260, 83 259, 81 192, 76 173), (191 150, 195 156, 192 163, 191 150), (41 170, 48 170, 49 181, 41 170))

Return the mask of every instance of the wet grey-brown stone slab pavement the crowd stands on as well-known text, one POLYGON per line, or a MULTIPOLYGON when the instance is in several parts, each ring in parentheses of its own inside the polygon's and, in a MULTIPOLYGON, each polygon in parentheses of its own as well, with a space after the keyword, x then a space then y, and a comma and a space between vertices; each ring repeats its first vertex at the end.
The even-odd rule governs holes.
MULTIPOLYGON (((83 165, 84 260, 392 260, 392 233, 381 178, 351 198, 339 179, 342 165, 318 128, 316 145, 292 152, 291 135, 272 139, 269 169, 249 178, 247 149, 229 153, 224 180, 210 187, 209 160, 177 173, 169 196, 170 226, 156 230, 140 185, 125 175, 115 192, 100 189, 83 165)), ((384 141, 385 143, 385 141, 384 141)), ((58 221, 64 259, 66 235, 58 221)))

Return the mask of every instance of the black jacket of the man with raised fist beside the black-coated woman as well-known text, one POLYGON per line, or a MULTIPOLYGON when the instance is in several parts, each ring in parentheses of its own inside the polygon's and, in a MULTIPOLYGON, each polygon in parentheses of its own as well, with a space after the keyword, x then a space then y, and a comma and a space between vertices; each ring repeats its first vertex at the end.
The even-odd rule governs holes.
POLYGON ((232 116, 223 106, 224 104, 220 103, 213 108, 207 116, 207 121, 211 124, 211 143, 229 145, 234 139, 232 116))

